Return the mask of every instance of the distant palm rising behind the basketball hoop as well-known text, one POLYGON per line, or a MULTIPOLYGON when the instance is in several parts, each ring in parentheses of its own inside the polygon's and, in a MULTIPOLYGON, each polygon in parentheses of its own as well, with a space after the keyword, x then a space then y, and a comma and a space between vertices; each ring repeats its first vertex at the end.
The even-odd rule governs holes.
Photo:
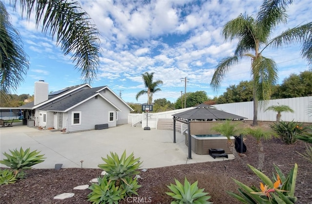
POLYGON ((142 79, 144 81, 145 88, 147 90, 141 90, 139 93, 136 95, 136 99, 140 97, 143 94, 147 94, 147 104, 150 105, 153 102, 153 93, 161 91, 160 88, 158 88, 158 85, 163 84, 161 80, 157 80, 153 82, 153 77, 154 77, 154 72, 149 74, 148 72, 145 72, 142 74, 142 79))

